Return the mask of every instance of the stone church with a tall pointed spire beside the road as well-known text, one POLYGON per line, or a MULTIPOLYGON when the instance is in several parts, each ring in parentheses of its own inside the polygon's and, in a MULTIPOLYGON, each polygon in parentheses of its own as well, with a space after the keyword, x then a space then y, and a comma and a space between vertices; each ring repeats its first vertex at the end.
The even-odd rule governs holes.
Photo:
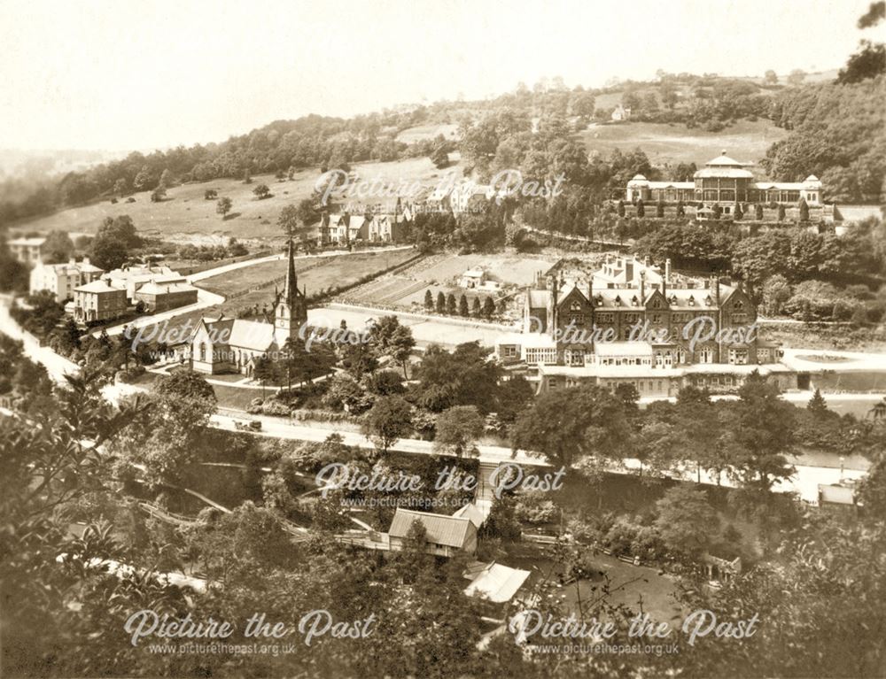
POLYGON ((292 242, 283 292, 277 295, 274 320, 206 317, 190 336, 190 366, 199 373, 252 375, 255 360, 280 351, 286 340, 298 337, 307 322, 306 289, 299 290, 292 242))

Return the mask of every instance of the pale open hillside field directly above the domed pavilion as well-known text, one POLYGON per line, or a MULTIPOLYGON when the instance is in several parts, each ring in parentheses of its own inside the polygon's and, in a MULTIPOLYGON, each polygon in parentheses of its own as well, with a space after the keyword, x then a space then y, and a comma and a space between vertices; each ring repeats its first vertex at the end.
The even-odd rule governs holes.
POLYGON ((593 125, 580 133, 591 151, 608 156, 613 150, 634 150, 638 146, 653 165, 696 163, 701 166, 726 150, 736 160, 758 162, 766 149, 788 133, 771 120, 740 120, 722 132, 688 129, 674 123, 632 122, 619 125, 593 125))

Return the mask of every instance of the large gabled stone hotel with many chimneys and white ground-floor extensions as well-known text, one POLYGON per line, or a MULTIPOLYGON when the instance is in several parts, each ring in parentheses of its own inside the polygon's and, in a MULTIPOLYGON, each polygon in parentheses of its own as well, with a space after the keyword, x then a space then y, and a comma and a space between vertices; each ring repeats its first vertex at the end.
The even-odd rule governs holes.
POLYGON ((506 365, 525 365, 539 390, 592 381, 628 382, 641 397, 688 384, 726 392, 755 369, 789 379, 756 320, 740 286, 672 274, 670 263, 662 271, 610 256, 585 272, 560 262, 526 290, 523 332, 501 336, 496 352, 506 365))

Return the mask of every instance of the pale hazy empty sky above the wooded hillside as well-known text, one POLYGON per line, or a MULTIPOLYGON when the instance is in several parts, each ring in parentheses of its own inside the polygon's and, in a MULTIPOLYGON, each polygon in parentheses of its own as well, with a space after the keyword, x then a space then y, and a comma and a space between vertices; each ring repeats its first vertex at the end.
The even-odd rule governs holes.
POLYGON ((0 148, 222 141, 543 76, 827 70, 869 2, 0 0, 0 148))

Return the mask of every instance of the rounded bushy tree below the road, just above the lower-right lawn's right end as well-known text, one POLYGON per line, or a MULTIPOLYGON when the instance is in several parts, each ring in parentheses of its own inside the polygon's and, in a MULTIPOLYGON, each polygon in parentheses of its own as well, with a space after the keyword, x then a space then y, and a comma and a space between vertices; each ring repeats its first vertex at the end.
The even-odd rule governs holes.
POLYGON ((685 483, 674 486, 657 501, 656 509, 656 529, 673 551, 697 557, 709 547, 719 519, 702 489, 685 483))

